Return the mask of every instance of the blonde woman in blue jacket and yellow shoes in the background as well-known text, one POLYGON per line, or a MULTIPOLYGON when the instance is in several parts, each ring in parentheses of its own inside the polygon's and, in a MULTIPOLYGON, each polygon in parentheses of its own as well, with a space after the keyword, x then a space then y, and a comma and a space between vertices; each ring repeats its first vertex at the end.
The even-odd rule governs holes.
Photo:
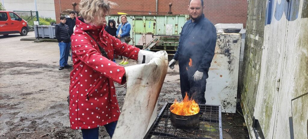
MULTIPOLYGON (((116 31, 116 35, 121 42, 125 42, 128 44, 130 41, 130 34, 131 31, 131 24, 128 23, 126 15, 121 15, 121 21, 118 30, 116 31)), ((120 65, 128 65, 128 57, 123 57, 122 62, 119 63, 120 65)))

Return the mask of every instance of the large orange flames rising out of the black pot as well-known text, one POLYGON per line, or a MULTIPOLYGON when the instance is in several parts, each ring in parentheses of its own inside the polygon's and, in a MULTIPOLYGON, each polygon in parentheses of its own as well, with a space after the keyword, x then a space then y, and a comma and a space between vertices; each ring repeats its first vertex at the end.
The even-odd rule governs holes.
POLYGON ((174 103, 170 106, 170 111, 176 115, 190 116, 195 115, 200 111, 199 105, 195 100, 189 100, 188 95, 186 95, 182 102, 177 102, 176 99, 174 103))

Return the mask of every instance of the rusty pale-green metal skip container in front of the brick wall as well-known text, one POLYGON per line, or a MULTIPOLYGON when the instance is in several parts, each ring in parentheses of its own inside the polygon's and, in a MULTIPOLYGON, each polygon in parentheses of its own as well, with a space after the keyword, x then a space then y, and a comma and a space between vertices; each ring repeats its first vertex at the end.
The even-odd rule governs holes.
MULTIPOLYGON (((189 15, 126 15, 131 24, 131 45, 143 48, 152 39, 152 35, 179 35, 189 15)), ((106 20, 114 19, 116 27, 121 23, 121 15, 108 15, 106 20)), ((160 44, 158 44, 160 45, 160 44)), ((171 44, 174 45, 174 44, 171 44)))

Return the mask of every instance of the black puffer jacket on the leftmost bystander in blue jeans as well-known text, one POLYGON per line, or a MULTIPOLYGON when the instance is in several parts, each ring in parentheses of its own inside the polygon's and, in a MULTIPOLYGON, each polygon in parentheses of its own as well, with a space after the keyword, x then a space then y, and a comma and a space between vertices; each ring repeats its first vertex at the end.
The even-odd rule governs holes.
POLYGON ((69 27, 66 24, 59 23, 55 26, 55 34, 58 42, 68 43, 71 41, 71 37, 69 35, 69 27))

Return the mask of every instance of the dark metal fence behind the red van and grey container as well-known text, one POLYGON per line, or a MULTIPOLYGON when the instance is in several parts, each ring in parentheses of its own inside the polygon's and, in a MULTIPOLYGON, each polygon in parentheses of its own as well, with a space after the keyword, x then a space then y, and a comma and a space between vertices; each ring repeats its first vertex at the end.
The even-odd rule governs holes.
POLYGON ((39 12, 38 11, 14 11, 22 19, 28 22, 30 31, 34 31, 34 21, 39 21, 39 12))

